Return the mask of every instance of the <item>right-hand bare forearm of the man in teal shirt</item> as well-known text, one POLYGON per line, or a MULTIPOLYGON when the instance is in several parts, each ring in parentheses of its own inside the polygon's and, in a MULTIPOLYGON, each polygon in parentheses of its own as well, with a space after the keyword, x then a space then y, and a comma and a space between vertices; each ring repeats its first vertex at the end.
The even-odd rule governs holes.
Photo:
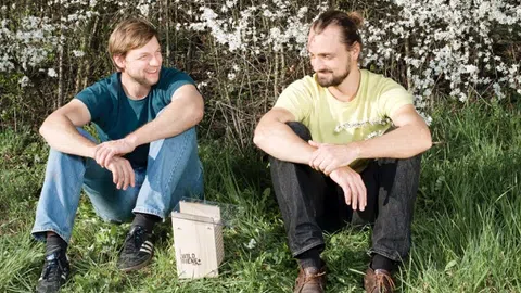
POLYGON ((201 105, 176 109, 167 106, 155 119, 143 125, 125 139, 132 145, 150 143, 155 140, 175 137, 195 126, 203 117, 201 105))

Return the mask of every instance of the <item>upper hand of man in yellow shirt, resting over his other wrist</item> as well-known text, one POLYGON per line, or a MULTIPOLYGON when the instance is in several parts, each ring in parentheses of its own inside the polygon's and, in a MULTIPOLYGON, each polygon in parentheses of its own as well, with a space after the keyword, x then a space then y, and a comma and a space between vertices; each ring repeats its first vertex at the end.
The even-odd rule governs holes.
POLYGON ((317 148, 312 154, 309 166, 316 170, 321 170, 326 175, 330 175, 336 168, 348 166, 358 157, 355 143, 330 144, 313 140, 309 140, 308 143, 317 148))

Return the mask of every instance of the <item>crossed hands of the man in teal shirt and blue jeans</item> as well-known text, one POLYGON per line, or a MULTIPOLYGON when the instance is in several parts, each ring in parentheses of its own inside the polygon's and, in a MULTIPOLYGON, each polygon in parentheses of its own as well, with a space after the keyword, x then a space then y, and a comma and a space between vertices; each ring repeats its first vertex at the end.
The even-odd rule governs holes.
POLYGON ((130 162, 123 155, 132 152, 136 145, 127 139, 111 140, 94 146, 92 158, 102 168, 112 171, 112 181, 117 189, 135 187, 135 174, 130 162))

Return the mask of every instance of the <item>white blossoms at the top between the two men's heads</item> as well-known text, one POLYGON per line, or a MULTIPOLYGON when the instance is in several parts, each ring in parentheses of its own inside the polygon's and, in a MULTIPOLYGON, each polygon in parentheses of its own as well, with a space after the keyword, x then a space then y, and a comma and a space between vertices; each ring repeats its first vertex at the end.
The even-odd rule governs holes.
MULTIPOLYGON (((196 22, 188 24, 188 29, 208 30, 217 43, 226 46, 228 52, 259 54, 297 50, 305 53, 308 7, 295 11, 290 1, 270 0, 237 12, 237 2, 226 1, 220 8, 200 3, 195 8, 199 11, 194 15, 196 22)), ((326 10, 327 2, 320 3, 318 9, 326 10)))

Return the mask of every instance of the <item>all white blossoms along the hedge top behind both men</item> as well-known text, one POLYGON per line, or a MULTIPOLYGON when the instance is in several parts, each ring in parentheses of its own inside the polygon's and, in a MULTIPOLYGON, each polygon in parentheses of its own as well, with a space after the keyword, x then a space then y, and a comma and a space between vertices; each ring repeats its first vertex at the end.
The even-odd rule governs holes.
MULTIPOLYGON (((217 44, 216 51, 227 54, 230 66, 249 64, 251 55, 276 60, 305 55, 309 24, 328 9, 323 0, 252 0, 247 5, 238 0, 171 3, 175 8, 166 9, 187 16, 176 30, 207 34, 217 44)), ((52 21, 46 16, 0 16, 0 73, 36 68, 55 77, 55 66, 50 63, 56 61, 56 53, 65 43, 67 56, 88 53, 77 36, 86 34, 87 21, 107 8, 164 22, 154 18, 162 16, 158 8, 165 9, 156 0, 52 0, 48 5, 60 8, 62 16, 52 21)), ((448 89, 446 93, 460 101, 472 91, 498 99, 508 91, 521 94, 519 0, 373 0, 371 5, 378 10, 371 11, 361 30, 361 65, 395 76, 405 73, 418 106, 427 104, 440 89, 448 89)), ((18 8, 16 3, 1 5, 0 15, 10 9, 18 8)), ((275 71, 282 72, 287 65, 275 71)), ((272 75, 271 69, 258 72, 272 75)), ((239 82, 247 72, 228 66, 224 73, 227 82, 239 82)), ((200 81, 205 85, 207 80, 200 81)), ((21 80, 21 85, 28 82, 21 80)))

